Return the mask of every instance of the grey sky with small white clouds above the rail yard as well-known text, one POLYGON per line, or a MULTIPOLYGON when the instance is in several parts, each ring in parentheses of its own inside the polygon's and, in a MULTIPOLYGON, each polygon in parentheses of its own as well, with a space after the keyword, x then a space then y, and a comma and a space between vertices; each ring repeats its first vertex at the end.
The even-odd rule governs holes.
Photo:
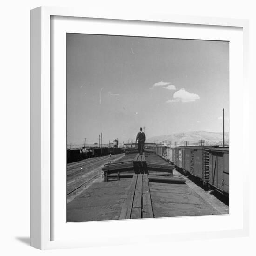
MULTIPOLYGON (((67 34, 67 144, 229 131, 229 42, 67 34)), ((147 141, 146 141, 147 142, 147 141)))

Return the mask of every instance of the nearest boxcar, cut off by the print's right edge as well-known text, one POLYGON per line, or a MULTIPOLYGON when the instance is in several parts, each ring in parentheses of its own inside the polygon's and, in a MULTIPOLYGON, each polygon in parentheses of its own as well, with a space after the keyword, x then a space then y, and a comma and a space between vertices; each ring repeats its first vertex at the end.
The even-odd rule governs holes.
POLYGON ((229 196, 229 148, 209 149, 209 186, 229 196))

